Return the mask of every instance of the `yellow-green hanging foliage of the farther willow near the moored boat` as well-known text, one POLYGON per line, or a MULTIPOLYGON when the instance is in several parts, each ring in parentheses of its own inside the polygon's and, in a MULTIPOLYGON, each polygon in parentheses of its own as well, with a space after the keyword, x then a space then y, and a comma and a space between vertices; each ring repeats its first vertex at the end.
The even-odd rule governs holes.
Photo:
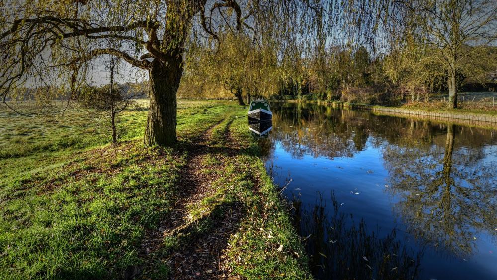
POLYGON ((190 70, 185 73, 182 86, 194 90, 194 85, 204 97, 216 96, 209 89, 224 90, 245 105, 244 92, 250 96, 269 96, 277 91, 278 78, 285 67, 278 62, 274 42, 265 39, 255 43, 244 34, 220 34, 220 46, 198 46, 189 52, 190 70), (186 85, 188 84, 188 85, 186 85))

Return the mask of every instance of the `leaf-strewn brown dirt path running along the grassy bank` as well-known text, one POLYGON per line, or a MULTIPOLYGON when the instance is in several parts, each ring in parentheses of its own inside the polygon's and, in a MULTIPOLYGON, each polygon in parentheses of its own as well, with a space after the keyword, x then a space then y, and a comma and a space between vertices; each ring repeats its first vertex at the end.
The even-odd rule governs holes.
POLYGON ((213 169, 219 171, 237 153, 237 149, 233 149, 237 145, 229 135, 233 119, 228 123, 223 123, 224 121, 226 118, 209 127, 188 147, 184 147, 187 151, 187 163, 179 172, 174 209, 160 223, 158 230, 149 233, 149 241, 144 244, 146 253, 149 254, 160 250, 165 238, 179 240, 179 248, 169 252, 166 259, 172 270, 170 279, 236 279, 231 277, 227 266, 226 249, 228 239, 238 229, 244 212, 242 203, 217 205, 209 213, 193 220, 189 213, 189 210, 199 208, 199 203, 205 197, 216 192, 212 183, 223 176, 222 172, 205 172, 212 168, 206 157, 216 156, 218 163, 213 169), (212 134, 219 125, 226 125, 226 128, 221 139, 218 137, 215 140, 212 134), (201 230, 204 224, 207 228, 201 230))

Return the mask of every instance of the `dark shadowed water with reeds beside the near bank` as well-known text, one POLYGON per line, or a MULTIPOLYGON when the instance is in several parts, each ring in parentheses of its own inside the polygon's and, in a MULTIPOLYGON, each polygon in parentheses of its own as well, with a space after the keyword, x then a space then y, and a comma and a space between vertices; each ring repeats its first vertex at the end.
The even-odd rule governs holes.
POLYGON ((331 192, 332 213, 321 198, 312 209, 294 200, 296 225, 308 236, 306 249, 313 275, 318 279, 414 279, 421 252, 410 252, 396 240, 396 231, 380 237, 364 221, 339 213, 331 192))

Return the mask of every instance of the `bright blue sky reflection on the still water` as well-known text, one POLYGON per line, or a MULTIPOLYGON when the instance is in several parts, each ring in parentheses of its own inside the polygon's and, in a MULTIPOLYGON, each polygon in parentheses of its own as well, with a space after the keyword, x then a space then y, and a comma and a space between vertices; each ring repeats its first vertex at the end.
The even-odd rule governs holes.
MULTIPOLYGON (((444 165, 440 161, 444 159, 446 145, 449 144, 449 138, 446 140, 447 132, 443 129, 439 129, 440 126, 438 124, 432 125, 435 128, 427 134, 431 137, 428 137, 427 143, 420 144, 418 142, 421 142, 421 140, 414 139, 413 143, 406 144, 400 141, 399 143, 392 144, 390 143, 390 140, 387 139, 402 137, 399 137, 400 135, 395 132, 392 132, 392 135, 387 135, 389 132, 385 132, 393 131, 393 129, 386 129, 383 132, 377 132, 375 129, 378 129, 379 127, 389 127, 389 121, 397 118, 382 117, 381 122, 378 122, 375 119, 362 119, 360 125, 365 126, 354 127, 352 124, 349 129, 331 129, 331 131, 324 131, 322 127, 320 128, 320 124, 323 125, 323 123, 325 123, 325 125, 333 126, 331 125, 333 120, 339 118, 333 118, 331 116, 324 121, 314 120, 312 117, 307 116, 306 121, 308 123, 299 125, 295 119, 292 119, 293 116, 288 117, 287 115, 287 119, 285 119, 285 116, 278 117, 278 108, 274 108, 273 106, 273 110, 276 113, 273 131, 271 132, 270 139, 265 140, 267 142, 262 143, 262 145, 270 146, 267 155, 265 156, 265 160, 268 171, 273 176, 274 182, 280 186, 284 186, 289 179, 292 180, 284 192, 285 195, 288 197, 297 197, 302 200, 303 205, 309 207, 309 205, 313 205, 317 202, 319 192, 327 203, 326 211, 331 213, 331 201, 326 201, 326 199, 328 199, 330 191, 334 191, 336 201, 340 205, 340 211, 342 213, 352 214, 355 220, 364 219, 368 229, 375 230, 380 236, 388 234, 393 228, 397 229, 397 239, 400 240, 403 245, 416 251, 421 251, 424 247, 424 254, 421 259, 420 279, 497 279, 497 231, 495 230, 497 228, 497 217, 493 217, 493 219, 490 218, 490 221, 494 224, 487 225, 485 228, 478 226, 478 228, 475 229, 470 224, 456 227, 456 231, 468 229, 471 236, 467 235, 466 237, 469 236, 469 238, 472 238, 472 240, 461 242, 464 244, 469 242, 472 248, 471 253, 459 254, 445 248, 443 244, 440 244, 440 246, 433 244, 436 243, 436 239, 426 240, 422 237, 415 238, 412 232, 410 232, 409 225, 406 224, 406 217, 399 208, 401 207, 399 205, 403 205, 406 199, 412 199, 417 191, 416 188, 412 188, 410 185, 428 181, 428 178, 436 177, 437 172, 440 172, 438 174, 439 176, 443 176, 440 174, 444 165), (306 125, 310 125, 309 122, 314 122, 312 123, 312 128, 306 127, 306 125), (377 122, 379 125, 367 126, 369 122, 377 122), (315 134, 301 133, 300 135, 291 135, 295 134, 294 130, 299 129, 304 131, 323 131, 316 132, 315 134), (350 133, 352 130, 354 132, 350 133), (360 147, 360 149, 347 147, 347 145, 354 145, 353 137, 354 134, 356 134, 355 132, 359 130, 364 130, 367 134, 365 145, 360 147), (334 139, 345 139, 343 140, 343 145, 333 145, 329 150, 327 150, 326 147, 323 147, 323 145, 326 146, 326 144, 323 144, 322 142, 316 144, 318 146, 317 148, 311 147, 312 144, 310 143, 313 141, 311 138, 317 137, 318 135, 322 138, 325 138, 323 135, 331 135, 334 139), (302 139, 305 140, 302 141, 302 139), (348 150, 346 152, 330 151, 332 149, 338 149, 337 147, 348 150), (392 155, 387 154, 387 147, 390 149, 396 147, 409 147, 414 150, 414 152, 411 154, 394 154, 398 159, 389 160, 388 157, 391 157, 392 155), (295 150, 299 150, 299 152, 295 152, 295 150), (401 189, 401 187, 395 185, 399 182, 398 180, 406 179, 405 174, 394 178, 392 177, 392 170, 399 167, 396 166, 397 164, 406 164, 406 161, 409 164, 409 160, 411 159, 408 158, 406 160, 406 158, 403 157, 413 156, 413 153, 414 159, 412 159, 412 161, 415 162, 417 166, 408 167, 407 169, 409 170, 406 169, 405 174, 422 174, 421 176, 426 177, 419 177, 417 178, 417 181, 414 180, 412 183, 411 181, 408 181, 409 183, 407 184, 404 182, 402 184, 405 184, 405 186, 410 188, 401 189), (327 156, 322 156, 322 154, 326 154, 327 156)), ((349 112, 349 114, 353 113, 349 112)), ((364 117, 364 113, 361 114, 361 117, 364 117)), ((370 117, 369 114, 368 117, 370 117)), ((342 118, 338 122, 347 122, 347 119, 342 118)), ((339 124, 334 125, 339 127, 339 124)), ((398 125, 398 123, 393 125, 398 125)), ((430 125, 427 127, 429 126, 430 125)), ((445 129, 445 126, 442 128, 445 129)), ((408 127, 396 128, 397 131, 399 131, 399 129, 408 129, 408 127)), ((473 205, 474 208, 471 207, 471 210, 465 210, 460 209, 458 205, 454 206, 450 204, 452 206, 450 211, 451 213, 454 212, 455 214, 458 214, 456 215, 458 218, 460 216, 465 216, 465 218, 461 218, 463 221, 461 223, 468 223, 469 221, 482 222, 479 217, 472 217, 471 215, 483 213, 485 211, 490 211, 490 214, 496 214, 495 208, 481 209, 484 205, 480 205, 478 199, 485 194, 480 193, 479 190, 473 189, 474 186, 471 185, 471 182, 476 182, 474 185, 477 187, 479 187, 478 184, 486 185, 486 188, 483 188, 482 192, 489 189, 495 190, 494 186, 487 186, 487 184, 492 184, 492 182, 497 183, 497 175, 481 179, 479 172, 482 171, 482 168, 486 169, 483 171, 485 174, 488 174, 489 172, 494 172, 495 174, 497 171, 495 168, 497 160, 497 143, 495 140, 497 138, 494 136, 494 133, 488 133, 488 131, 478 128, 460 129, 460 127, 456 127, 454 135, 455 140, 451 142, 452 145, 454 145, 454 148, 452 161, 450 162, 450 170, 453 172, 447 178, 455 178, 454 184, 458 187, 451 186, 451 191, 454 192, 453 195, 457 197, 451 197, 450 203, 455 204, 458 201, 464 201, 464 203, 461 202, 463 203, 463 207, 464 205, 473 205), (464 133, 473 133, 476 134, 476 136, 469 135, 467 137, 462 137, 464 133), (478 139, 483 142, 483 144, 478 146, 471 142, 472 139, 478 139), (465 176, 469 177, 468 180, 466 180, 467 178, 465 178, 465 176), (466 194, 458 196, 458 193, 466 192, 456 193, 456 188, 471 189, 473 192, 467 194, 467 197, 464 197, 466 194)), ((409 137, 404 138, 409 139, 409 137)), ((336 140, 331 139, 331 141, 336 140)), ((445 181, 442 180, 441 182, 445 181)), ((426 182, 425 185, 427 184, 428 183, 426 182)), ((423 190, 425 188, 426 186, 422 186, 419 189, 423 190)), ((439 188, 443 189, 443 186, 439 188)), ((443 190, 441 192, 443 192, 443 190)), ((423 194, 421 193, 421 195, 423 194)), ((422 196, 422 199, 428 199, 429 201, 429 197, 431 196, 422 196)), ((436 195, 433 197, 441 199, 436 195)), ((496 197, 494 196, 493 198, 490 198, 490 200, 487 200, 487 204, 485 205, 489 205, 488 203, 493 203, 495 201, 496 197)), ((439 201, 429 202, 434 203, 434 208, 436 208, 438 205, 437 203, 439 203, 439 201)), ((428 209, 433 209, 433 207, 428 209)), ((404 209, 404 211, 407 210, 409 210, 409 207, 404 209)), ((437 219, 438 218, 440 217, 437 217, 437 219)), ((459 220, 454 221, 453 223, 457 225, 458 221, 459 220)), ((485 218, 485 221, 489 222, 489 218, 485 218)), ((441 221, 441 223, 443 223, 443 221, 441 221)), ((416 229, 419 230, 419 228, 416 229)), ((420 230, 424 231, 423 234, 426 234, 426 236, 430 235, 429 229, 421 228, 420 230)), ((442 233, 441 236, 445 237, 445 232, 442 233)), ((436 235, 437 233, 433 234, 436 235)), ((463 235, 464 234, 461 236, 463 235)), ((439 237, 440 233, 438 233, 437 236, 439 237)))

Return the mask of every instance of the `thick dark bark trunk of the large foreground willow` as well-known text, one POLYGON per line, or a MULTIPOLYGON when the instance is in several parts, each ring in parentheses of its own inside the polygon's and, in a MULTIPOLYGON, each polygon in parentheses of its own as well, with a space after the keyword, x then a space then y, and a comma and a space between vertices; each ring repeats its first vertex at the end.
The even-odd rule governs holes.
POLYGON ((182 58, 168 63, 154 60, 149 70, 150 108, 145 130, 145 146, 171 146, 176 142, 176 93, 183 74, 182 58))

